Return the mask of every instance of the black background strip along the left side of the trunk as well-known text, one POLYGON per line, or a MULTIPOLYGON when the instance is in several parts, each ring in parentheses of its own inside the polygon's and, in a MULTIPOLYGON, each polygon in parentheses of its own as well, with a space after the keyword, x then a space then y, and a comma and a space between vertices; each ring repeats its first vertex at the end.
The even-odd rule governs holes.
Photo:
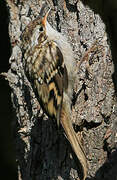
MULTIPOLYGON (((5 1, 0 1, 0 73, 9 69, 11 54, 8 35, 9 14, 5 1)), ((8 82, 0 76, 0 179, 17 179, 15 147, 12 134, 12 104, 8 82)))

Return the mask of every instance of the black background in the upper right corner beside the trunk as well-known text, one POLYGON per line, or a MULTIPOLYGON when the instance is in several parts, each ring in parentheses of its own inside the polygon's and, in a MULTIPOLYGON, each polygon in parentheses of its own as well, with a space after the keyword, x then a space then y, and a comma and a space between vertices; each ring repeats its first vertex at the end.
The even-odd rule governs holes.
POLYGON ((110 39, 114 73, 112 75, 115 93, 117 96, 117 1, 116 0, 82 0, 95 13, 99 14, 106 25, 106 31, 110 39))

